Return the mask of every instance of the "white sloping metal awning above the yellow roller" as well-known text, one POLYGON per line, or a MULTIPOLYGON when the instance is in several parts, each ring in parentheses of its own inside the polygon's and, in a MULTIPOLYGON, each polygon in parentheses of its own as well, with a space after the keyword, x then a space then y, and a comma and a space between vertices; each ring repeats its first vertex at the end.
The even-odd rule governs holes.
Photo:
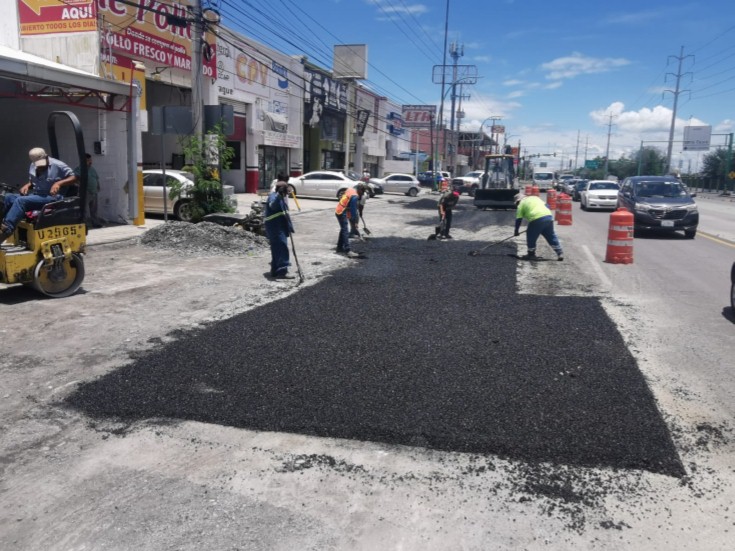
POLYGON ((131 95, 130 83, 100 78, 92 73, 5 46, 0 46, 0 78, 100 94, 131 95))

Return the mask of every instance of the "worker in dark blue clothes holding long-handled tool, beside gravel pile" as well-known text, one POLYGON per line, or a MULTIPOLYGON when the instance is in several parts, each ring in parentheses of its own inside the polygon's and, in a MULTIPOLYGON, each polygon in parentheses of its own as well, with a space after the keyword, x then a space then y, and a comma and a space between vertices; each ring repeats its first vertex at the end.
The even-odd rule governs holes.
POLYGON ((291 266, 288 238, 294 229, 288 215, 288 178, 284 174, 277 176, 276 188, 268 195, 264 216, 265 233, 271 246, 271 277, 294 279, 288 273, 291 266))

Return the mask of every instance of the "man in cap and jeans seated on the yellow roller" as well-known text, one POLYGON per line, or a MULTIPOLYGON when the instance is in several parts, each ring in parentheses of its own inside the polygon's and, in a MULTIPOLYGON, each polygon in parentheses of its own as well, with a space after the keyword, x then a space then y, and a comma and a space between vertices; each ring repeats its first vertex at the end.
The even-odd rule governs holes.
POLYGON ((5 196, 5 218, 0 224, 0 243, 13 234, 15 226, 26 212, 61 201, 64 198, 62 188, 77 181, 74 171, 68 165, 49 157, 40 147, 31 149, 28 158, 31 160, 28 182, 20 188, 19 193, 8 193, 5 196))

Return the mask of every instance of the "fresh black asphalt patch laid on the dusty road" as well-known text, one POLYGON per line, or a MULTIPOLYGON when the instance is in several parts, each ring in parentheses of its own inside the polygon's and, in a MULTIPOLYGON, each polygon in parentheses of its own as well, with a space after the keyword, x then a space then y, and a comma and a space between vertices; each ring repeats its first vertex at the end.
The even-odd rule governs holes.
MULTIPOLYGON (((281 300, 176 335, 67 406, 682 476, 655 400, 595 298, 519 295, 477 243, 376 238, 281 300)), ((550 269, 553 269, 550 266, 550 269)))

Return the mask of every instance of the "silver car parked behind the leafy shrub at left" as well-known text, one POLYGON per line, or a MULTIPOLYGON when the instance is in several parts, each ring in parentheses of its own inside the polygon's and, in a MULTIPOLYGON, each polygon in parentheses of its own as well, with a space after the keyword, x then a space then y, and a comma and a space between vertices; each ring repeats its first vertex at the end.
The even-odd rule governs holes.
MULTIPOLYGON (((182 170, 166 170, 166 212, 173 214, 182 222, 191 222, 192 213, 189 205, 191 199, 187 189, 194 186, 194 175, 182 170), (183 193, 171 199, 171 185, 180 182, 183 193)), ((226 200, 237 208, 234 186, 222 186, 226 200)), ((163 171, 152 169, 143 171, 143 211, 163 214, 164 212, 163 171)))

